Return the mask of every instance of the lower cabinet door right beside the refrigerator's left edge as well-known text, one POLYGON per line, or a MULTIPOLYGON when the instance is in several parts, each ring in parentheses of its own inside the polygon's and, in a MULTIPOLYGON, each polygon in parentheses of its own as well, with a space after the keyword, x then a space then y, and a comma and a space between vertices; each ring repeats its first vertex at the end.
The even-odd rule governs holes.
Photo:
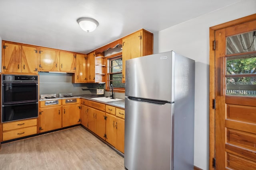
POLYGON ((115 147, 124 153, 124 119, 116 117, 115 129, 115 147))

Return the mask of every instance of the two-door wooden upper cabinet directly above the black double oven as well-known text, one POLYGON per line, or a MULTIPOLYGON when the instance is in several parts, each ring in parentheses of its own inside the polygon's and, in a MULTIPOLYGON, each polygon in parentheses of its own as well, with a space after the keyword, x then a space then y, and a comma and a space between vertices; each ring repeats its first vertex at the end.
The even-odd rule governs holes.
POLYGON ((38 73, 38 48, 33 45, 21 45, 2 41, 2 72, 38 73))

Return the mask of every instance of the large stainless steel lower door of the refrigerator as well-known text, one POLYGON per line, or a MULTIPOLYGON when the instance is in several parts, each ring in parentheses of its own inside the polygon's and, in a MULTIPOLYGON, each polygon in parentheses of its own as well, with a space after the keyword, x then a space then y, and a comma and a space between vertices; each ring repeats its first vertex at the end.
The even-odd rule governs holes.
POLYGON ((124 166, 128 170, 173 169, 173 106, 125 98, 124 166))

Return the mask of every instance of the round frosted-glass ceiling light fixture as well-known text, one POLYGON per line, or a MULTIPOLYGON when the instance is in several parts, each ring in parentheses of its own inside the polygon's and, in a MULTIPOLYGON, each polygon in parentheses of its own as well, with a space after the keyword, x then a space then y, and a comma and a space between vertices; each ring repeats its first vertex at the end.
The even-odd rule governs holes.
POLYGON ((99 25, 98 21, 88 17, 78 18, 77 22, 80 27, 86 32, 94 31, 99 25))

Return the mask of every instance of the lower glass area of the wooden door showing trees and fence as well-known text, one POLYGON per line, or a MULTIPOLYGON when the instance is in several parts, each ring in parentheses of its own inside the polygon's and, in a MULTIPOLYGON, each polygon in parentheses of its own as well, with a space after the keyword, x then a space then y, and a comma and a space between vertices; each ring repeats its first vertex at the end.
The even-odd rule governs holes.
POLYGON ((256 96, 256 54, 226 57, 226 94, 256 96))

